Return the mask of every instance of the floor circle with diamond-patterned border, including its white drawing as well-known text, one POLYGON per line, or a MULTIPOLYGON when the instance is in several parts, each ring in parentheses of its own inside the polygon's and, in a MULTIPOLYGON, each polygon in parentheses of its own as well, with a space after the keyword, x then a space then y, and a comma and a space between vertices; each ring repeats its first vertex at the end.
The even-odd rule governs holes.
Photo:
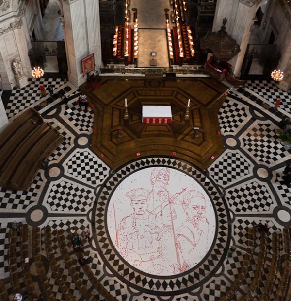
POLYGON ((94 212, 107 276, 149 294, 199 287, 229 247, 230 216, 218 188, 177 159, 138 159, 119 168, 100 188, 94 212))

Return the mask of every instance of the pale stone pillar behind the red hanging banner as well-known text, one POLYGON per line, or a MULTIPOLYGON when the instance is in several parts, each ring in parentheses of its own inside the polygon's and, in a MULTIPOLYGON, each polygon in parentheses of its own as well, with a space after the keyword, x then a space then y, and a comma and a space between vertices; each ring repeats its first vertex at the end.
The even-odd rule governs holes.
POLYGON ((63 1, 65 47, 69 66, 68 79, 80 86, 86 81, 81 59, 94 53, 95 70, 101 66, 99 1, 63 1))

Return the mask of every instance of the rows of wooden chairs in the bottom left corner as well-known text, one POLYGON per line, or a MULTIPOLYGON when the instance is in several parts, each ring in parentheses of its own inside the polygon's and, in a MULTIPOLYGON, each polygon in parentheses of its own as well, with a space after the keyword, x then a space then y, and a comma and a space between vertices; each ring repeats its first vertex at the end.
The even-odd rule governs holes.
MULTIPOLYGON (((38 298, 37 296, 42 294, 43 300, 56 300, 56 296, 52 291, 51 285, 49 283, 50 278, 54 278, 60 287, 64 300, 75 301, 76 299, 69 291, 69 287, 66 285, 65 280, 60 269, 60 258, 56 258, 56 251, 52 245, 52 233, 51 228, 47 226, 43 229, 46 257, 49 262, 49 269, 51 269, 52 275, 48 274, 48 266, 44 266, 44 254, 41 254, 41 229, 39 227, 30 227, 28 224, 19 224, 18 232, 17 230, 10 230, 8 234, 9 247, 8 247, 8 268, 9 268, 9 281, 8 279, 0 279, 0 300, 10 300, 11 296, 16 293, 21 293, 22 291, 28 291, 29 299, 38 298), (30 230, 32 228, 32 230, 30 230), (32 248, 29 248, 29 247, 32 248), (16 247, 20 247, 21 252, 21 272, 19 272, 19 258, 17 258, 16 247), (37 270, 37 282, 32 281, 31 265, 29 264, 34 261, 37 270), (23 278, 23 281, 21 279, 23 278), (8 293, 6 289, 6 284, 11 283, 11 290, 8 293), (26 287, 22 288, 20 283, 25 283, 26 287), (5 284, 6 283, 6 284, 5 284)), ((58 239, 58 250, 62 255, 65 266, 68 269, 73 282, 75 283, 76 289, 78 289, 81 294, 81 300, 96 301, 99 298, 104 298, 102 300, 106 301, 117 301, 117 299, 107 291, 104 286, 100 283, 95 273, 91 270, 89 265, 83 265, 83 269, 86 277, 92 284, 93 288, 98 292, 99 298, 96 298, 94 291, 88 289, 87 286, 83 285, 82 278, 79 272, 74 266, 73 258, 70 255, 69 248, 71 248, 71 242, 67 241, 64 236, 64 230, 60 229, 57 231, 58 239)), ((54 245, 55 247, 56 245, 54 245)), ((76 253, 77 257, 83 257, 82 252, 76 253)), ((63 300, 63 299, 62 299, 63 300)))

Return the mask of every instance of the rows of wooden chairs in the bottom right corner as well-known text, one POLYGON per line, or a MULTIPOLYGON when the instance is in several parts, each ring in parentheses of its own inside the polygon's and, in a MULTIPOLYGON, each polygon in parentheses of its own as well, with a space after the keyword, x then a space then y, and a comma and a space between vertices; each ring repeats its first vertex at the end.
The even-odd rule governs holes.
POLYGON ((226 294, 220 298, 221 301, 237 300, 236 292, 244 282, 246 275, 250 272, 251 260, 257 261, 256 267, 253 270, 254 277, 252 278, 252 283, 248 285, 247 293, 242 296, 241 300, 269 301, 276 280, 279 281, 279 285, 275 292, 274 300, 286 300, 291 277, 291 229, 284 228, 282 232, 282 239, 280 238, 280 234, 272 234, 271 246, 268 234, 266 232, 259 232, 260 243, 257 245, 256 228, 250 227, 248 229, 247 248, 246 253, 244 254, 241 271, 238 275, 235 275, 235 279, 226 291, 226 294), (269 248, 272 248, 270 264, 267 263, 266 260, 269 248), (283 254, 281 254, 281 248, 283 249, 283 254), (255 251, 256 249, 258 250, 255 251), (282 265, 280 265, 281 262, 283 262, 282 265), (266 269, 268 270, 267 274, 266 269), (280 270, 282 273, 279 276, 280 270), (263 277, 267 278, 264 285, 262 284, 263 277))

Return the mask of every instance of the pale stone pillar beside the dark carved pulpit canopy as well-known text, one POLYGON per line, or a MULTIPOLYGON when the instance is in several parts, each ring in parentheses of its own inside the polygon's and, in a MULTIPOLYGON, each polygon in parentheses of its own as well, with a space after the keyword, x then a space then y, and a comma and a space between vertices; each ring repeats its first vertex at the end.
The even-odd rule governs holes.
POLYGON ((258 2, 259 0, 239 0, 231 36, 240 45, 241 51, 229 61, 236 76, 241 75, 242 62, 257 10, 255 4, 258 2))

